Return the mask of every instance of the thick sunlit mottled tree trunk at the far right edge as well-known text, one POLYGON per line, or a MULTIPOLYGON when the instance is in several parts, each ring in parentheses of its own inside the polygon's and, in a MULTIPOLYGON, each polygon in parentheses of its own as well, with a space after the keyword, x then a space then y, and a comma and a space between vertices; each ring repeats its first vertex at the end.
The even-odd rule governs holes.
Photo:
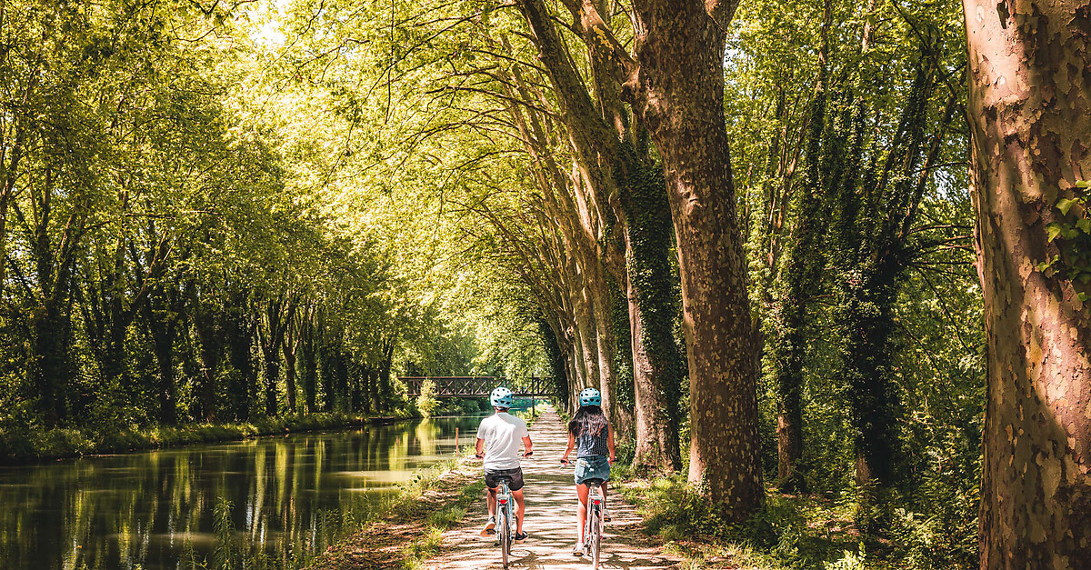
POLYGON ((1072 281, 1080 237, 1051 241, 1046 226, 1071 221, 1057 202, 1091 178, 1091 4, 963 5, 988 343, 981 568, 1087 569, 1091 290, 1072 281))

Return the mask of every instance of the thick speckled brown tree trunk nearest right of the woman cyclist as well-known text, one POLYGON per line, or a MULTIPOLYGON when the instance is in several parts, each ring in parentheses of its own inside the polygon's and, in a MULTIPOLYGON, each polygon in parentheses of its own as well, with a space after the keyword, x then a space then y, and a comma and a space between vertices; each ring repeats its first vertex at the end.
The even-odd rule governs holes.
MULTIPOLYGON (((690 360, 690 480, 743 520, 764 499, 754 337, 723 119, 723 32, 704 3, 636 3, 635 108, 659 149, 690 360)), ((726 20, 729 20, 727 17, 726 20)))

